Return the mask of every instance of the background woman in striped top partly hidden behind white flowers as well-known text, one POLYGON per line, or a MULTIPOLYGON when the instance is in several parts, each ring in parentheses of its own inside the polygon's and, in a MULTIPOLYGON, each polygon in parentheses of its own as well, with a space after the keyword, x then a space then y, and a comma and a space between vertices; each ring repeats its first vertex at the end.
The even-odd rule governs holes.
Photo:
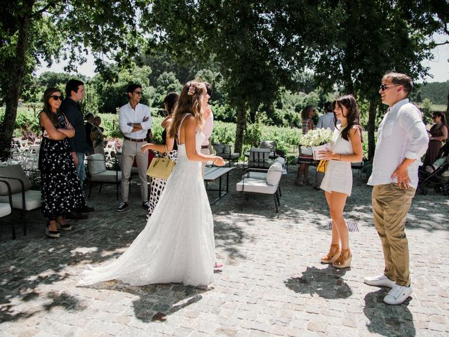
MULTIPOLYGON (((302 134, 305 135, 309 130, 314 129, 314 121, 312 118, 315 116, 315 107, 313 105, 307 105, 301 112, 302 118, 302 134)), ((297 176, 295 185, 304 186, 310 185, 309 183, 309 165, 314 163, 314 157, 311 154, 311 147, 300 147, 300 155, 298 157, 298 163, 300 167, 297 169, 297 176), (304 174, 304 180, 301 181, 301 176, 304 174)))

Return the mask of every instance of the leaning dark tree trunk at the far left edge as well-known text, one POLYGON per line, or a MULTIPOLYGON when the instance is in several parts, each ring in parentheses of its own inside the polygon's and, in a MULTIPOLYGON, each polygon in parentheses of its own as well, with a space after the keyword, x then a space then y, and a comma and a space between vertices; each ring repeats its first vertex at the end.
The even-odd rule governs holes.
POLYGON ((0 127, 0 160, 6 160, 10 157, 11 138, 17 117, 17 107, 22 89, 23 71, 25 69, 25 53, 28 45, 28 28, 31 20, 34 0, 23 1, 23 16, 18 18, 18 41, 15 46, 15 63, 12 67, 11 82, 9 84, 8 95, 6 95, 6 110, 4 121, 0 127))

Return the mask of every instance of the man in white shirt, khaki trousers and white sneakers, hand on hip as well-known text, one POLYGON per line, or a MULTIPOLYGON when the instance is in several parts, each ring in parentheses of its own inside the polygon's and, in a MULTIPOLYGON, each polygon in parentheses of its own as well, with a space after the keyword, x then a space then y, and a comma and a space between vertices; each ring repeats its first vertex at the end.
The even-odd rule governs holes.
POLYGON ((420 158, 429 143, 421 112, 408 101, 411 90, 412 81, 405 74, 390 72, 382 77, 379 93, 389 109, 377 130, 373 173, 368 180, 373 185, 373 217, 385 269, 364 282, 390 287, 384 297, 389 305, 403 303, 412 293, 406 216, 418 184, 420 158))

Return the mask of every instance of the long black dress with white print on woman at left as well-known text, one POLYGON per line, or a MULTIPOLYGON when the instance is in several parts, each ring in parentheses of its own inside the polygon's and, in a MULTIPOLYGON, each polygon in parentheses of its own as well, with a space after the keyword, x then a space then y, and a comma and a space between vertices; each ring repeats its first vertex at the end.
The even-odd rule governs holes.
MULTIPOLYGON (((67 128, 64 114, 56 114, 58 128, 67 128)), ((82 209, 86 206, 86 200, 79 185, 69 140, 52 140, 46 136, 45 128, 41 128, 44 135, 39 150, 42 213, 50 220, 82 209)))

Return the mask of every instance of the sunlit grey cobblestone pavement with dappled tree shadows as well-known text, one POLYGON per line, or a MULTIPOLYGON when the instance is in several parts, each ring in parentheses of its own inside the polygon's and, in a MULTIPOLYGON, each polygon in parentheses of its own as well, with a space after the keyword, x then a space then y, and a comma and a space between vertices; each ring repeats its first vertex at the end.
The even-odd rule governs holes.
POLYGON ((363 284, 383 268, 366 179, 354 173, 345 209, 360 228, 350 233, 353 267, 336 270, 319 263, 330 244, 323 191, 293 185, 290 166, 278 216, 272 197, 243 201, 235 192, 241 173, 232 171, 232 192, 212 207, 225 267, 206 290, 114 281, 77 286, 87 263, 116 258, 145 226, 138 188, 130 209, 116 213, 115 191, 103 187, 88 200, 95 212, 72 221, 74 230, 60 239, 44 237, 39 211, 28 213, 26 237, 16 225, 16 240, 10 224, 18 217, 1 219, 0 336, 449 335, 448 197, 433 190, 415 197, 407 224, 413 295, 389 306, 382 302, 387 289, 363 284))

